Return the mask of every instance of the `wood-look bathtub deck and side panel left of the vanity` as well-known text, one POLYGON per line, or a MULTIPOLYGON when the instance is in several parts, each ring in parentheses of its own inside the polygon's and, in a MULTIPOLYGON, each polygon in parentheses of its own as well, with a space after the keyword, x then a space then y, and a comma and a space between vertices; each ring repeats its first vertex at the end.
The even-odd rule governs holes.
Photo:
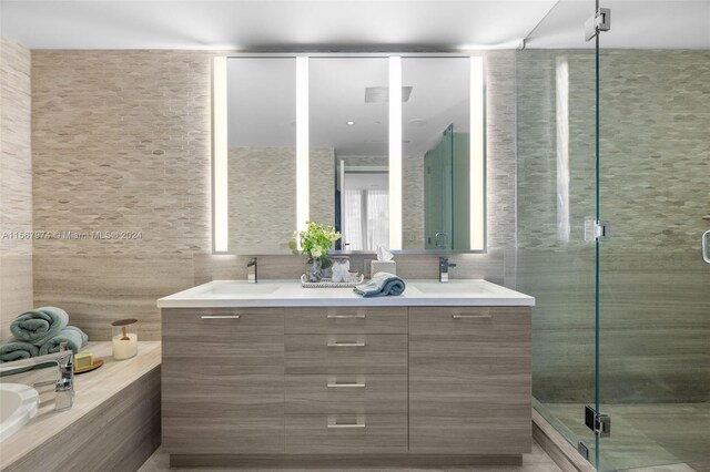
MULTIPOLYGON (((140 342, 138 356, 115 361, 111 342, 84 348, 104 365, 74 377, 74 404, 55 412, 54 388, 38 387, 40 409, 0 443, 3 472, 136 470, 160 445, 160 342, 140 342)), ((57 368, 0 379, 32 384, 57 368)))

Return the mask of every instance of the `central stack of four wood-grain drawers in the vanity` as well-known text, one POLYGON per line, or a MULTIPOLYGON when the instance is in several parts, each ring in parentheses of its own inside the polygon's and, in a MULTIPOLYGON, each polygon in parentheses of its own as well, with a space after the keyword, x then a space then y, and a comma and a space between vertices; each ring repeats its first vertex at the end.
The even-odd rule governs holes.
POLYGON ((407 309, 286 310, 286 453, 407 452, 407 309))

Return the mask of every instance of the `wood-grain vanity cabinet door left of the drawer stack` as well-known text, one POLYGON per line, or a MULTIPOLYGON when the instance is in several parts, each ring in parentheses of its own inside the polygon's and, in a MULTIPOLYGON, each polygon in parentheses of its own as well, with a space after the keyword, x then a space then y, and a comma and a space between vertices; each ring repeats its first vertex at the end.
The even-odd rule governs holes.
POLYGON ((283 332, 278 308, 163 310, 166 452, 284 451, 283 332))

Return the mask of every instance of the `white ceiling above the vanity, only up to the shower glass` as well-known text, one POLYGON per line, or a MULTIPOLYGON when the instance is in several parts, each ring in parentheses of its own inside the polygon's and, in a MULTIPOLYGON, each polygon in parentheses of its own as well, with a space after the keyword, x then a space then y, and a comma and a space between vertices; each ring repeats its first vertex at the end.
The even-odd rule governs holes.
POLYGON ((453 49, 524 38, 556 0, 2 0, 30 49, 453 49))

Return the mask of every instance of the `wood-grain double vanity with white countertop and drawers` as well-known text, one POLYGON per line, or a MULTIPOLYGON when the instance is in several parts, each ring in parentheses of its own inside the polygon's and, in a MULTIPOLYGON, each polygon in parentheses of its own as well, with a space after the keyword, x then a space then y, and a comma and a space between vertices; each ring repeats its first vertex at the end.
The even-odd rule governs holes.
POLYGON ((519 463, 534 304, 485 280, 162 298, 163 450, 183 466, 519 463))

